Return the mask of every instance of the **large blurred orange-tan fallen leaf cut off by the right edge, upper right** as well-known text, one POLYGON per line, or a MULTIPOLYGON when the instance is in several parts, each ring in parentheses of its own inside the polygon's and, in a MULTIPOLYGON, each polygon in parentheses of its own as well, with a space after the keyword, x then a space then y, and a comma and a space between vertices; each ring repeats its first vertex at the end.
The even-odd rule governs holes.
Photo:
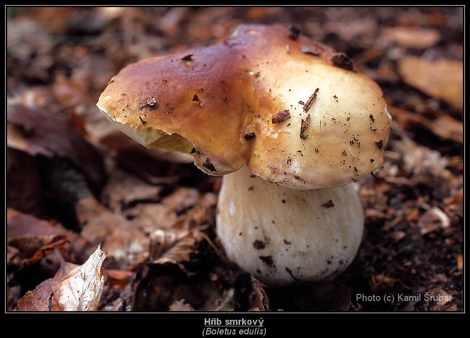
POLYGON ((429 61, 405 56, 398 62, 400 76, 408 85, 463 109, 463 62, 429 61))

